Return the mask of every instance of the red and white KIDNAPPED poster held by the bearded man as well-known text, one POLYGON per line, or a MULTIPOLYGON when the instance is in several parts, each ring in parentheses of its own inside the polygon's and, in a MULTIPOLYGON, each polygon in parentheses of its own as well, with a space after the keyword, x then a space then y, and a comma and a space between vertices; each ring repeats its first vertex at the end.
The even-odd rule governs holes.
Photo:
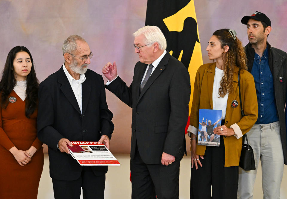
POLYGON ((80 165, 120 165, 115 156, 104 144, 98 142, 71 142, 72 147, 67 145, 71 156, 76 159, 80 165))

